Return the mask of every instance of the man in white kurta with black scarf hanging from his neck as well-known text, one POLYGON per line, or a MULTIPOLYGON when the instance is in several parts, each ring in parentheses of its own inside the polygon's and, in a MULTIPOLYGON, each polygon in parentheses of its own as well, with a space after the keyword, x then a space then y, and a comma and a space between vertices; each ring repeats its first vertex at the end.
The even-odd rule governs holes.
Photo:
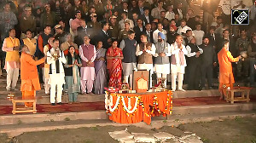
POLYGON ((57 86, 57 104, 61 105, 62 86, 65 83, 63 64, 66 64, 64 53, 59 48, 59 40, 55 39, 53 48, 47 52, 47 63, 49 64, 50 103, 55 106, 55 89, 57 86))

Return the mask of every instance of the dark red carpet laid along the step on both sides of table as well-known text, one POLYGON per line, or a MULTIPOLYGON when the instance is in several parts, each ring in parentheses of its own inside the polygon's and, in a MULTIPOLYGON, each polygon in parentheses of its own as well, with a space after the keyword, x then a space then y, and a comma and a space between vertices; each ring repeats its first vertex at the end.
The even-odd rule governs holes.
MULTIPOLYGON (((182 98, 174 99, 173 107, 175 106, 201 106, 201 105, 215 105, 215 104, 230 104, 225 100, 218 100, 219 97, 194 97, 194 98, 182 98)), ((256 101, 255 96, 251 96, 251 101, 256 101), (253 99, 254 97, 254 99, 253 99)), ((18 106, 19 107, 19 106, 18 106)), ((21 106, 20 107, 24 107, 21 106)), ((13 106, 0 106, 0 116, 4 114, 11 114, 13 106)), ((104 102, 84 102, 79 104, 62 104, 51 106, 47 105, 37 105, 38 112, 47 113, 59 113, 59 112, 91 112, 97 110, 105 110, 104 102)))

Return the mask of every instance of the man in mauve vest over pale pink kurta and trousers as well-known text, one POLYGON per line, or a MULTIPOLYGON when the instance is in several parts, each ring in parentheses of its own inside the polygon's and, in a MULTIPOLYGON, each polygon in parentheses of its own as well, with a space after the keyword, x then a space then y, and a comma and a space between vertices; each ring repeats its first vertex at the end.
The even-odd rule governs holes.
POLYGON ((79 55, 82 60, 81 67, 81 89, 82 94, 92 94, 93 82, 95 80, 94 60, 96 59, 95 46, 90 44, 90 38, 84 36, 84 44, 79 47, 79 55))

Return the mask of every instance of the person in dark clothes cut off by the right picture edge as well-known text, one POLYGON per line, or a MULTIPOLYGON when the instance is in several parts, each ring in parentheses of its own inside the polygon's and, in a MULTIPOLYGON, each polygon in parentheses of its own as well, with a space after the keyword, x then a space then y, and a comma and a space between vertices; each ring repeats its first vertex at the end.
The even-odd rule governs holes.
POLYGON ((253 35, 252 41, 248 46, 247 54, 250 58, 250 86, 256 87, 255 85, 255 70, 256 70, 256 35, 253 35))

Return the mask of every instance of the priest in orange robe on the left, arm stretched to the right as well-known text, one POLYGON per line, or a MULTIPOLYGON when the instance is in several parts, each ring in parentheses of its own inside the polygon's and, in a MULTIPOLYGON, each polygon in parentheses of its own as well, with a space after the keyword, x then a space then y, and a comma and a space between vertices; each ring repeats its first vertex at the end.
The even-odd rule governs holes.
MULTIPOLYGON (((23 100, 32 100, 36 95, 36 90, 40 90, 37 66, 44 63, 45 57, 40 60, 33 60, 32 55, 26 45, 21 49, 20 56, 20 78, 23 100)), ((31 107, 31 102, 25 103, 26 107, 31 107)))

